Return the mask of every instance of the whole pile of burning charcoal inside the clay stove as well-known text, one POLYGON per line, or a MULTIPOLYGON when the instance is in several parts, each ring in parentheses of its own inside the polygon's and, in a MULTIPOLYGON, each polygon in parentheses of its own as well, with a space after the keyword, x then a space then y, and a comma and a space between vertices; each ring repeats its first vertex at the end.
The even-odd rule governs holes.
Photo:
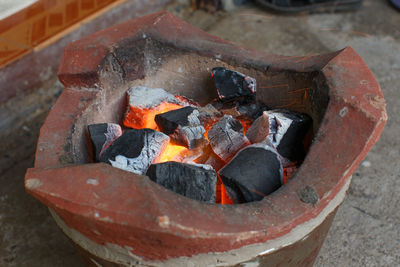
POLYGON ((258 201, 277 190, 304 160, 311 118, 257 102, 256 80, 242 73, 216 67, 212 79, 218 99, 206 106, 161 88, 130 88, 123 128, 88 126, 94 161, 210 203, 258 201))

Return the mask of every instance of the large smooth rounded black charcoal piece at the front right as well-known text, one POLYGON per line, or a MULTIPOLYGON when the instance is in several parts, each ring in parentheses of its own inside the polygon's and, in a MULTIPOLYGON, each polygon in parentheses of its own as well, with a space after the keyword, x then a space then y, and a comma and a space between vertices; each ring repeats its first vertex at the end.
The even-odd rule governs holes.
POLYGON ((234 203, 261 200, 277 190, 283 181, 279 155, 265 144, 242 149, 218 173, 234 203))

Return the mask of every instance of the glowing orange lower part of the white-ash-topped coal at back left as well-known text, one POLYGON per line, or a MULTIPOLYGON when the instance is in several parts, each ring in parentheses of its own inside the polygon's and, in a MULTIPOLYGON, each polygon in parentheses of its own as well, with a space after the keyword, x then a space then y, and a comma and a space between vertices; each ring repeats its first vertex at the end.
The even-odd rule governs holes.
POLYGON ((124 125, 134 129, 150 128, 157 130, 157 124, 154 120, 154 117, 157 114, 178 108, 182 108, 182 106, 168 102, 162 102, 160 105, 151 109, 136 108, 131 106, 125 116, 124 125))

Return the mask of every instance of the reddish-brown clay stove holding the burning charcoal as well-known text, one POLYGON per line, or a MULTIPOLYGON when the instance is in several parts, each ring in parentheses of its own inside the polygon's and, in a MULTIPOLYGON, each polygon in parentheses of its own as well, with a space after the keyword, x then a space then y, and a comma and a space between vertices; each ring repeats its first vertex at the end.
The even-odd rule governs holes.
POLYGON ((307 57, 268 55, 167 12, 70 44, 59 78, 66 89, 41 129, 25 187, 92 255, 93 264, 312 265, 351 174, 387 119, 379 85, 352 48, 307 57), (121 123, 129 86, 163 87, 207 103, 215 97, 209 77, 215 66, 255 77, 257 98, 267 105, 313 118, 314 142, 285 186, 260 202, 213 205, 146 176, 89 164, 86 126, 121 123))

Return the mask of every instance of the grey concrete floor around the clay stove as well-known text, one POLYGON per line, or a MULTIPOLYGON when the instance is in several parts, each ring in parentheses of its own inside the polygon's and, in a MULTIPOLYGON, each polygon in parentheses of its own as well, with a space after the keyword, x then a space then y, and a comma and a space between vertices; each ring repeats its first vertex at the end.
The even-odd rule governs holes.
MULTIPOLYGON (((256 50, 311 55, 352 46, 381 84, 389 121, 353 176, 315 266, 400 265, 400 13, 366 0, 356 13, 278 16, 254 5, 230 13, 192 12, 185 1, 167 7, 189 23, 256 50)), ((0 266, 84 266, 47 209, 24 191, 39 128, 62 90, 46 88, 0 106, 15 128, 1 131, 0 266)))

